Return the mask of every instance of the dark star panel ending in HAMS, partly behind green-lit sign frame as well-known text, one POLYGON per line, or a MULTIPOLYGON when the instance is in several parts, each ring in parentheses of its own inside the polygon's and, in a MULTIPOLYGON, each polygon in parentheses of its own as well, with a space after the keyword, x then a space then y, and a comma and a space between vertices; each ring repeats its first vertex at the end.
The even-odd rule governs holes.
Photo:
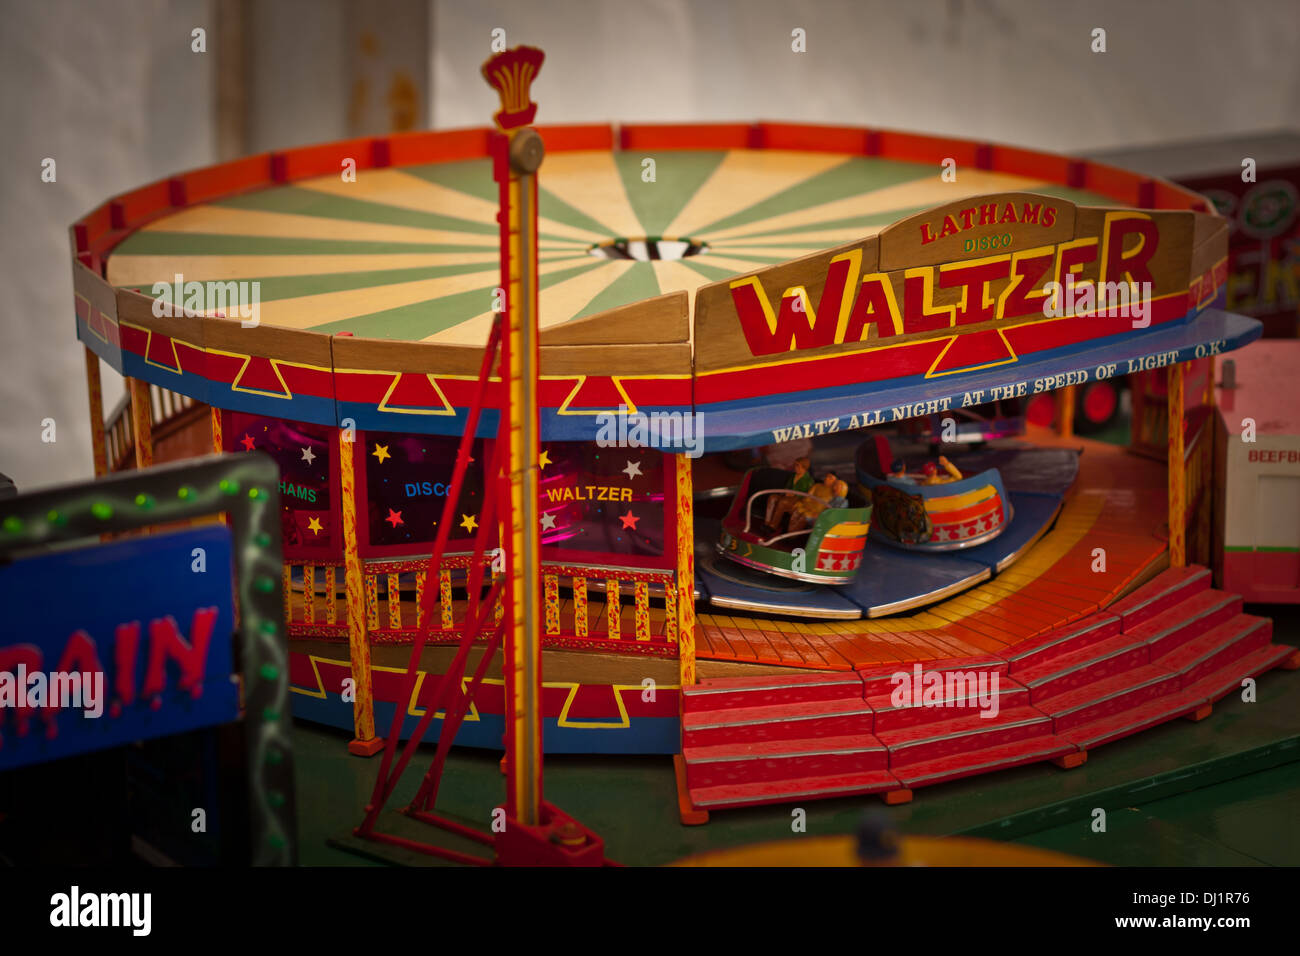
POLYGON ((240 411, 224 411, 226 451, 265 451, 280 466, 285 558, 342 561, 337 429, 240 411))

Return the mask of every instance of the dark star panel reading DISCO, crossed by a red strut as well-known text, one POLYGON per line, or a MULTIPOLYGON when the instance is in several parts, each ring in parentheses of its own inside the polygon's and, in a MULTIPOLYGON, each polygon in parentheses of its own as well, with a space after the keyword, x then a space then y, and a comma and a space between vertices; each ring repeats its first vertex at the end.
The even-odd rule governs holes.
MULTIPOLYGON (((367 557, 428 554, 438 533, 459 436, 358 432, 359 546, 367 557), (364 458, 364 460, 360 460, 364 458)), ((490 449, 471 446, 447 549, 469 550, 482 514, 484 471, 490 449)), ((495 536, 494 536, 495 537, 495 536)), ((495 544, 495 541, 493 541, 495 544)))

